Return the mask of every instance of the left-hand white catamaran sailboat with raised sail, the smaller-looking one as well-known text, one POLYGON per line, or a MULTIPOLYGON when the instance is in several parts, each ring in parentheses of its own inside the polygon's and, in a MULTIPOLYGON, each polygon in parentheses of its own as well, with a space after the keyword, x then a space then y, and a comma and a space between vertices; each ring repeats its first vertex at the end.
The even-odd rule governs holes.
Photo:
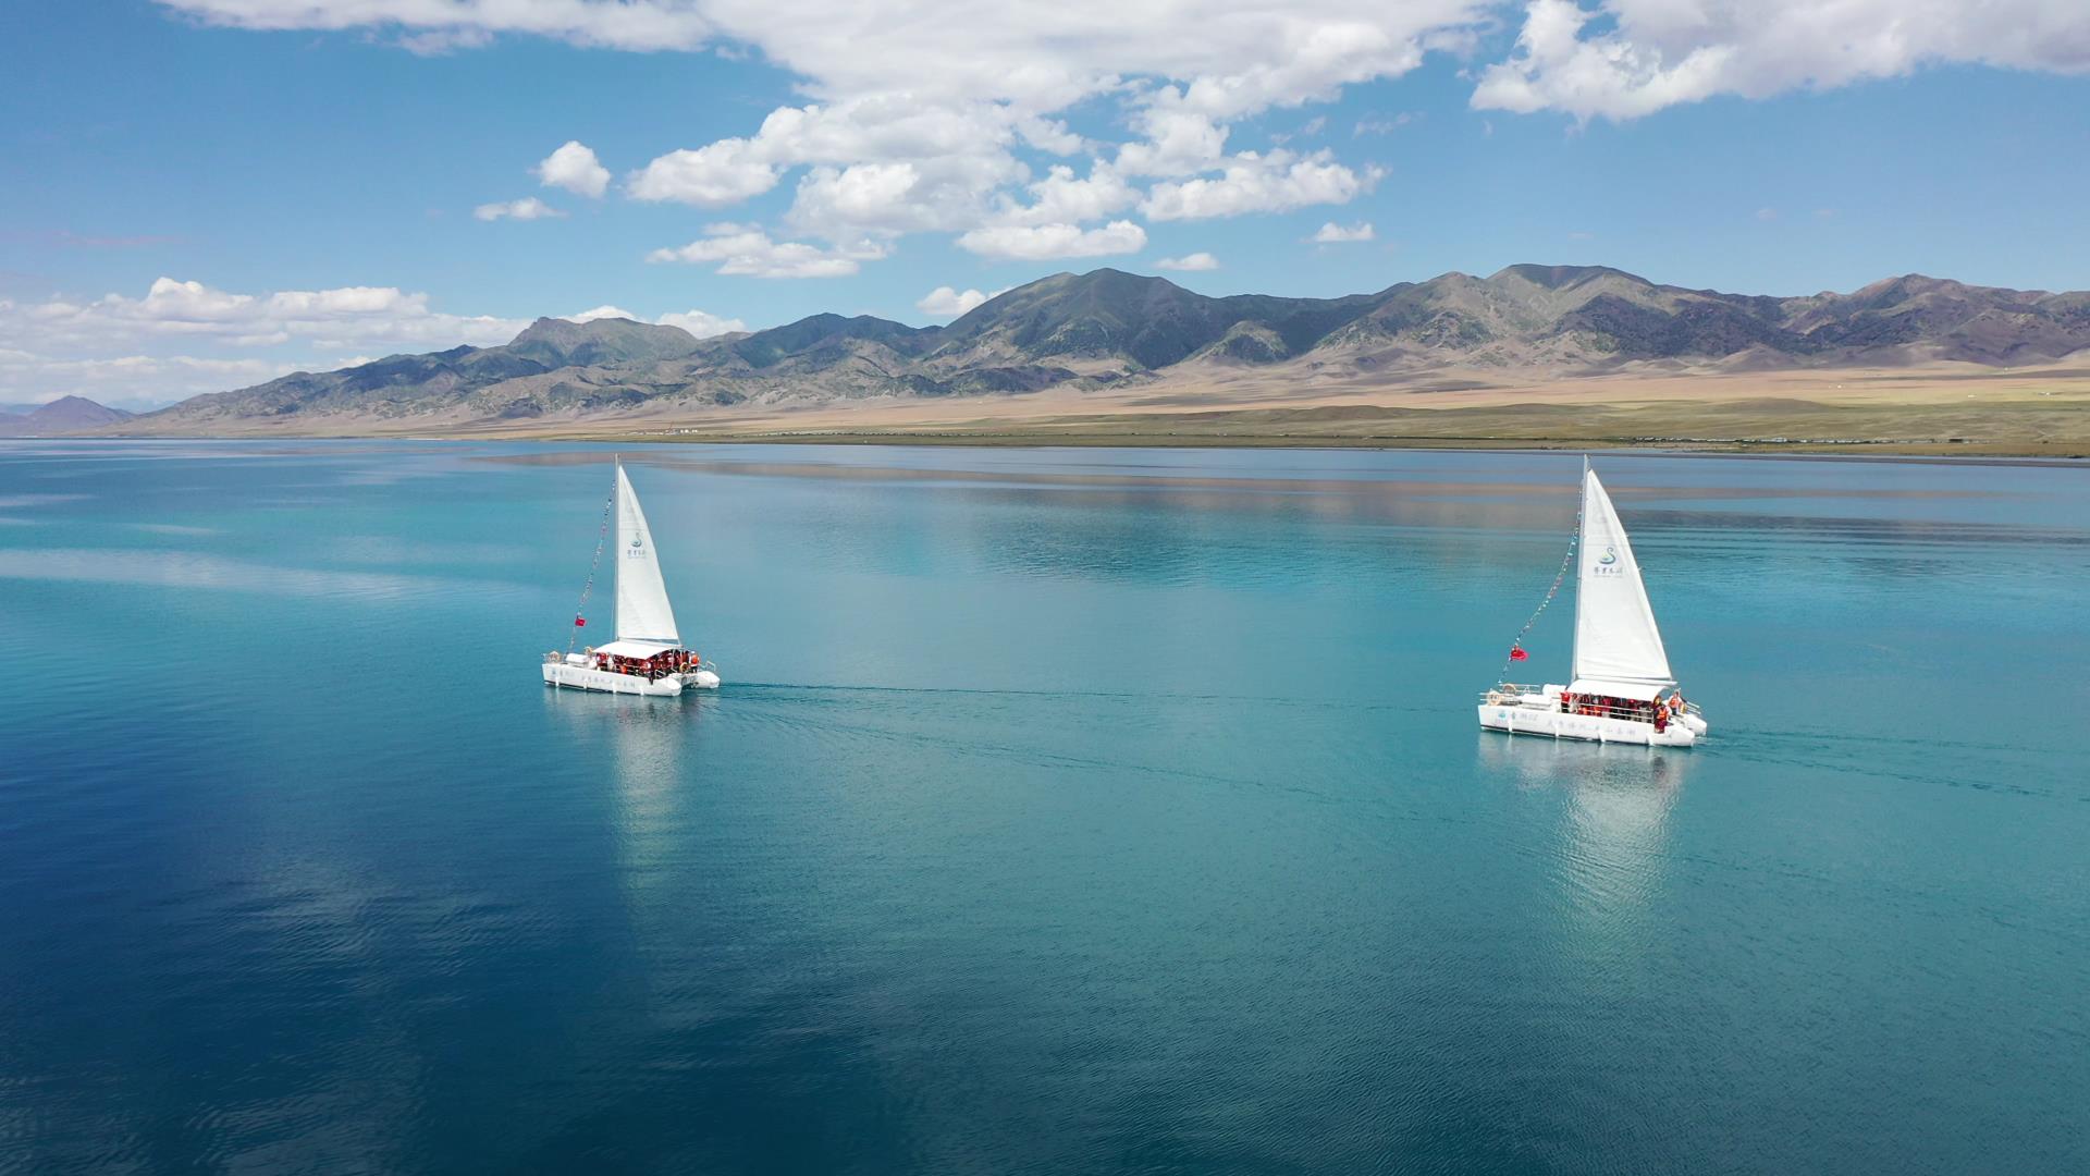
MULTIPOLYGON (((667 601, 667 584, 660 580, 660 555, 652 544, 652 529, 646 525, 646 511, 631 490, 625 465, 617 462, 617 494, 610 500, 617 515, 617 640, 573 653, 543 655, 543 682, 548 686, 571 686, 575 691, 604 691, 610 695, 679 695, 683 688, 715 691, 719 674, 690 649, 681 647, 681 632, 675 628, 675 607, 667 601)), ((608 525, 604 525, 608 538, 608 525)), ((602 561, 602 548, 596 548, 602 561)), ((589 571, 589 586, 594 586, 589 571)), ((587 590, 581 590, 587 603, 587 590)), ((575 628, 587 621, 575 613, 575 628)))

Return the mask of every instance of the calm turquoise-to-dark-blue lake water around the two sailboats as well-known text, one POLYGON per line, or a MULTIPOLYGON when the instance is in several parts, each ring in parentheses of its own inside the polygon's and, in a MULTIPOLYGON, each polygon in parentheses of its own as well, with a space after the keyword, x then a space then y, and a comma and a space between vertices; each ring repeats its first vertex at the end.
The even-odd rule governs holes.
POLYGON ((1647 751, 1576 456, 625 458, 0 442, 0 1170, 2090 1170, 2090 469, 1599 456, 1647 751))

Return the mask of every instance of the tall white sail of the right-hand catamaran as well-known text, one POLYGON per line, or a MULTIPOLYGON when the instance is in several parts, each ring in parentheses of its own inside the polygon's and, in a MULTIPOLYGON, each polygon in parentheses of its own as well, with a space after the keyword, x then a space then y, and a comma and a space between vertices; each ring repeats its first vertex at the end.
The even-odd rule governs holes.
POLYGON ((1641 565, 1632 559, 1626 527, 1595 471, 1582 473, 1580 561, 1574 607, 1576 682, 1672 684, 1670 655, 1662 649, 1641 565))

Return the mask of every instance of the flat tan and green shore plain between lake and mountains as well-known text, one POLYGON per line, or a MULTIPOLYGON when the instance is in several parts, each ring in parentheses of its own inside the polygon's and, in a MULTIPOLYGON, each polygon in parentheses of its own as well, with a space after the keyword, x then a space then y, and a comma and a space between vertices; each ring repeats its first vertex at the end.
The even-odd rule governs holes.
POLYGON ((663 404, 604 416, 146 416, 79 435, 2090 458, 2086 368, 1469 375, 1444 389, 1206 372, 1110 391, 663 404))

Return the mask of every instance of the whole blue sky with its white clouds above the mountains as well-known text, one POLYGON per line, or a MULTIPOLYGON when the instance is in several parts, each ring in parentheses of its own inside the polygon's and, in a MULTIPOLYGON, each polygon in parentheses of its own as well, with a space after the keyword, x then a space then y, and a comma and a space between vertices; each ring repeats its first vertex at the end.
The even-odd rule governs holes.
POLYGON ((936 322, 963 306, 924 310, 938 287, 1095 266, 1292 295, 1515 262, 2090 287, 2090 8, 1940 13, 17 4, 0 402, 159 404, 602 306, 936 322), (533 172, 566 142, 602 172, 533 172), (1030 188, 1053 165, 1070 186, 1030 188), (533 199, 560 216, 474 216, 533 199))

